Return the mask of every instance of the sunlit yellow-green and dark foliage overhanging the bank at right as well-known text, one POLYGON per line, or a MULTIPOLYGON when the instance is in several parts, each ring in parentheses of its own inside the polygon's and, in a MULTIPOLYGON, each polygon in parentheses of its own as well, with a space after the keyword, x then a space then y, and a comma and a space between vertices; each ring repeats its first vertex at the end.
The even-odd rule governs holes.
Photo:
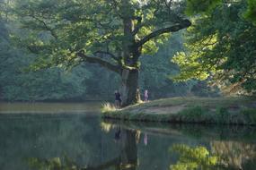
POLYGON ((254 3, 199 2, 190 1, 187 9, 191 15, 198 14, 193 16, 192 27, 186 33, 186 50, 173 58, 181 67, 180 75, 174 79, 210 78, 231 92, 255 91, 256 29, 249 14, 254 3), (196 4, 201 8, 195 8, 196 4))

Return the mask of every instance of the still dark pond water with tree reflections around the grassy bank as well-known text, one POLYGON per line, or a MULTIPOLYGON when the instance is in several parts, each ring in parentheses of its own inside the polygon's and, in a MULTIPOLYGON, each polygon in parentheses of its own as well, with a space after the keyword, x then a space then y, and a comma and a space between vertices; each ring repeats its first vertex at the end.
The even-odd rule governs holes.
POLYGON ((0 169, 256 169, 254 127, 120 123, 99 107, 0 104, 0 169))

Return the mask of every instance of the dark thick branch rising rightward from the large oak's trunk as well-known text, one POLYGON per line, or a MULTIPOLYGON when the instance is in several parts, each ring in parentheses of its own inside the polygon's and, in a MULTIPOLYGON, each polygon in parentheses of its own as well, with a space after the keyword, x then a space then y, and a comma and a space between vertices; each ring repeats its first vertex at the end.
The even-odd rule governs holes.
POLYGON ((152 38, 156 38, 164 33, 176 32, 178 30, 186 29, 190 27, 191 22, 189 20, 183 20, 180 23, 172 25, 171 27, 163 28, 160 30, 155 30, 154 32, 146 35, 146 37, 142 38, 140 41, 137 42, 137 47, 142 47, 147 41, 152 38))

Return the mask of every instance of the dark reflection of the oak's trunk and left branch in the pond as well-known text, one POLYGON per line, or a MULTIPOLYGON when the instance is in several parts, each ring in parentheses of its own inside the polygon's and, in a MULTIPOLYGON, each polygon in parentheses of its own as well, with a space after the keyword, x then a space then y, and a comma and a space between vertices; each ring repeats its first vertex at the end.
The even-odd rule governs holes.
POLYGON ((122 130, 122 137, 119 140, 120 154, 109 161, 98 166, 78 166, 70 158, 53 157, 42 159, 31 157, 27 159, 29 166, 38 170, 103 170, 110 168, 115 170, 136 170, 137 169, 137 142, 136 132, 122 130))

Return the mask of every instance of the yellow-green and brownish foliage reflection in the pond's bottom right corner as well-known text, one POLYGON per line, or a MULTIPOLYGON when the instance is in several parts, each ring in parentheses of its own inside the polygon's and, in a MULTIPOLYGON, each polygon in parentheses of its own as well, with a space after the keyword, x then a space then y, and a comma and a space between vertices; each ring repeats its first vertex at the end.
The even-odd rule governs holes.
POLYGON ((172 170, 254 170, 255 146, 234 141, 213 141, 211 151, 205 147, 191 148, 188 145, 173 145, 172 153, 179 159, 171 165, 172 170))

